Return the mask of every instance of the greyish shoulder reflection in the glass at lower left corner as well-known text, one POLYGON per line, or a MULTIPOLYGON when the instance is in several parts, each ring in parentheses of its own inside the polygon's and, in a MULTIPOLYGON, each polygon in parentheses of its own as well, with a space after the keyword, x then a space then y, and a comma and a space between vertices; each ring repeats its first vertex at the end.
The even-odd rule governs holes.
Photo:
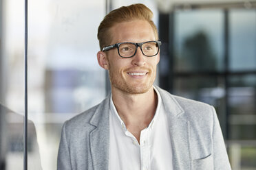
MULTIPOLYGON (((1 170, 14 170, 23 167, 23 116, 0 104, 1 114, 1 170)), ((28 169, 41 170, 39 145, 36 129, 28 121, 28 169)))

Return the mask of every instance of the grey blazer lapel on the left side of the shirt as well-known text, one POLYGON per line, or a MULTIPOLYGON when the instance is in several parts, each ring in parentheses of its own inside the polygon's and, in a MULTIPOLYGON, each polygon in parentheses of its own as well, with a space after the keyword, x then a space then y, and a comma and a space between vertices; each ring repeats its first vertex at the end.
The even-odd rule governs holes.
POLYGON ((109 97, 98 106, 90 123, 96 127, 89 134, 94 170, 107 170, 109 163, 109 97))

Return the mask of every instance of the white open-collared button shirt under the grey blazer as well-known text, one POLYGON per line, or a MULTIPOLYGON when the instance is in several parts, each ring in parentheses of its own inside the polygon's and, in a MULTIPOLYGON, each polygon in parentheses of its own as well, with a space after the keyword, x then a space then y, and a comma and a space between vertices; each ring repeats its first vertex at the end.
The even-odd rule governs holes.
POLYGON ((149 126, 140 132, 140 144, 120 118, 111 97, 109 111, 109 170, 171 170, 172 147, 167 115, 158 90, 158 106, 149 126))

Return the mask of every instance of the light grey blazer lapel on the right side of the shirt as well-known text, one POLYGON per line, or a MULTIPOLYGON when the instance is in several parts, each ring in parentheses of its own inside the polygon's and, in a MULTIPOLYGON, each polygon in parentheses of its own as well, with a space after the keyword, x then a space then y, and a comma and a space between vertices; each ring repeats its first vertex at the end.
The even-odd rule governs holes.
POLYGON ((165 90, 158 88, 162 97, 164 110, 167 112, 173 148, 173 169, 191 169, 189 121, 184 110, 174 97, 165 90))

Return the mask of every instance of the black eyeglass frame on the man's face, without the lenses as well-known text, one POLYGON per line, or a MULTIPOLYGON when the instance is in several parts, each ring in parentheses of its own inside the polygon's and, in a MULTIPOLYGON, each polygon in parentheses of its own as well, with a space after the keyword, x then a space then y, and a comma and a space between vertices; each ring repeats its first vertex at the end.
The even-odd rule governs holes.
MULTIPOLYGON (((116 48, 118 49, 118 54, 119 54, 119 56, 120 56, 121 58, 132 58, 133 56, 136 55, 138 47, 140 47, 140 50, 141 50, 141 52, 143 53, 142 45, 144 45, 144 44, 147 43, 147 42, 156 42, 156 44, 158 45, 158 52, 157 52, 155 55, 153 55, 153 56, 158 55, 159 49, 160 49, 160 45, 162 45, 162 42, 161 42, 160 40, 149 40, 149 41, 140 42, 140 43, 136 43, 136 42, 119 42, 119 43, 116 43, 116 44, 114 44, 114 45, 109 45, 109 46, 103 47, 103 52, 104 52, 104 51, 109 51, 110 49, 114 49, 114 48, 116 47, 116 48), (119 47, 120 47, 120 45, 122 45, 122 44, 132 44, 132 45, 135 45, 135 46, 136 46, 136 49, 135 49, 134 55, 132 55, 132 56, 130 56, 130 57, 123 57, 123 56, 121 56, 120 53, 119 53, 119 47)), ((147 56, 147 57, 153 57, 153 56, 145 55, 145 53, 143 53, 143 55, 144 55, 144 56, 147 56)))

